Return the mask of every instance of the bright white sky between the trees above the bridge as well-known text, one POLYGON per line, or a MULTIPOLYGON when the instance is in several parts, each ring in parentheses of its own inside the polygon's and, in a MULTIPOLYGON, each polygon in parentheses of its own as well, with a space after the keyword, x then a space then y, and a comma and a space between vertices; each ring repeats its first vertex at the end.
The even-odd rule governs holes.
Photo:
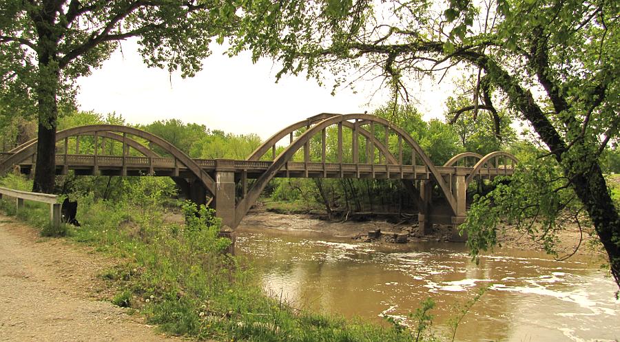
MULTIPOLYGON (((378 83, 358 83, 358 94, 340 89, 331 96, 331 84, 320 87, 304 76, 276 81, 277 65, 263 59, 251 63, 249 54, 224 56, 223 47, 203 61, 194 78, 148 68, 135 41, 122 44, 103 67, 80 78, 77 97, 81 110, 101 114, 116 112, 130 124, 178 118, 227 133, 258 133, 265 139, 293 122, 322 112, 363 113, 384 105, 386 91, 373 96, 378 83)), ((450 85, 420 86, 418 109, 427 120, 442 118, 450 85)))

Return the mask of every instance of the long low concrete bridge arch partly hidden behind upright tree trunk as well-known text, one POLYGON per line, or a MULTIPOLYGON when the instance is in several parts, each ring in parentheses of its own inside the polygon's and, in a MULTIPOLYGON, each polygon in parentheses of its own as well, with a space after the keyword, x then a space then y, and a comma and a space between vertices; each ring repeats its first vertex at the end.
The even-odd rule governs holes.
MULTIPOLYGON (((102 136, 107 138, 112 138, 114 140, 118 140, 118 138, 123 140, 123 136, 118 135, 117 133, 125 133, 131 134, 132 136, 137 136, 139 138, 143 138, 148 142, 152 142, 158 147, 164 149, 167 153, 170 153, 176 160, 178 160, 181 164, 183 164, 189 171, 191 171, 200 182, 205 186, 205 188, 211 193, 215 193, 214 190, 214 180, 209 176, 203 169, 196 163, 195 160, 189 158, 187 154, 183 151, 172 145, 170 142, 154 135, 153 133, 149 133, 147 131, 143 131, 141 129, 136 129, 134 127, 127 127, 121 125, 89 125, 89 126, 80 126, 73 127, 70 129, 64 129, 63 131, 59 131, 56 133, 56 142, 68 138, 70 136, 84 136, 84 135, 94 135, 94 134, 102 133, 102 136), (104 133, 105 132, 105 133, 104 133), (114 133, 116 132, 116 133, 114 133)), ((136 148, 136 145, 140 145, 136 140, 126 138, 125 142, 127 145, 132 145, 132 147, 136 148), (130 142, 132 141, 132 142, 130 142), (134 144, 135 143, 135 144, 134 144)), ((6 172, 8 168, 12 167, 14 164, 19 164, 26 158, 29 158, 36 153, 37 140, 30 140, 29 142, 25 142, 23 145, 12 149, 12 155, 3 160, 2 169, 0 171, 6 172)), ((145 147, 136 148, 141 153, 145 154, 145 156, 157 156, 157 154, 145 147)))

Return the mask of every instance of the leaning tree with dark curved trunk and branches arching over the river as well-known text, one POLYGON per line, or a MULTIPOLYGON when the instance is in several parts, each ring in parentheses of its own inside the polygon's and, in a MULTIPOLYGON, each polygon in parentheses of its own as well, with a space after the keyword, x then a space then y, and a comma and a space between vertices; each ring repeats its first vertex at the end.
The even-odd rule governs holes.
POLYGON ((620 286, 620 216, 599 164, 619 138, 619 6, 606 0, 254 0, 245 2, 234 52, 278 59, 278 76, 307 72, 323 82, 334 74, 336 87, 383 76, 402 98, 415 96, 413 85, 423 78, 446 82, 452 70, 473 75, 473 105, 460 112, 493 115, 495 107, 508 107, 528 122, 546 146, 541 158, 561 171, 548 180, 550 191, 574 193, 620 286))

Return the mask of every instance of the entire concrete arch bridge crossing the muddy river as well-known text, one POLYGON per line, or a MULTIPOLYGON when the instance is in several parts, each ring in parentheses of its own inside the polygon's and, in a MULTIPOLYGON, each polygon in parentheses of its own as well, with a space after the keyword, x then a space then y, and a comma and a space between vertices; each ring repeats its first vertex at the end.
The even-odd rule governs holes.
MULTIPOLYGON (((182 193, 198 204, 209 202, 231 228, 276 177, 401 180, 418 204, 421 226, 460 224, 468 184, 512 175, 517 163, 503 151, 466 152, 437 166, 406 131, 371 114, 312 116, 278 131, 246 160, 189 158, 152 133, 118 125, 65 129, 56 140, 57 174, 172 177, 182 193), (431 204, 433 188, 442 194, 440 203, 431 204)), ((31 140, 1 153, 0 173, 16 166, 31 172, 36 151, 37 140, 31 140)))

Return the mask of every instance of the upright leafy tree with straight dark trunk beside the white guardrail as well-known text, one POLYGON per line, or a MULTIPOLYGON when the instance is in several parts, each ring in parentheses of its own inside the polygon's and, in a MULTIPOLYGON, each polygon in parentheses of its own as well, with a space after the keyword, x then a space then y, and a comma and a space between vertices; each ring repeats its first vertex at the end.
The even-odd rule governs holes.
POLYGON ((37 113, 34 191, 54 188, 56 122, 76 78, 131 37, 147 65, 192 76, 235 10, 219 0, 0 0, 0 104, 11 109, 0 114, 37 113))

